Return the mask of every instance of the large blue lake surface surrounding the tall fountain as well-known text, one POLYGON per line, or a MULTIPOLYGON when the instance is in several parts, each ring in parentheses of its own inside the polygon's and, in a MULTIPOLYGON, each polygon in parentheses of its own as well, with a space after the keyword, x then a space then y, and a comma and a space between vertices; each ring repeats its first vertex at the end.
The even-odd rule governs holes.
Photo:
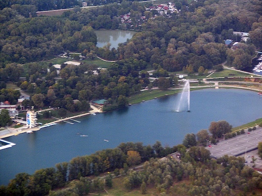
POLYGON ((79 118, 81 123, 74 125, 62 123, 5 138, 16 145, 0 150, 0 184, 7 185, 17 173, 33 174, 77 156, 115 148, 121 142, 153 145, 160 141, 163 146, 174 146, 182 143, 186 133, 208 129, 212 121, 226 120, 236 127, 262 118, 262 96, 252 91, 192 91, 190 112, 174 111, 178 98, 177 94, 152 99, 126 109, 79 118))

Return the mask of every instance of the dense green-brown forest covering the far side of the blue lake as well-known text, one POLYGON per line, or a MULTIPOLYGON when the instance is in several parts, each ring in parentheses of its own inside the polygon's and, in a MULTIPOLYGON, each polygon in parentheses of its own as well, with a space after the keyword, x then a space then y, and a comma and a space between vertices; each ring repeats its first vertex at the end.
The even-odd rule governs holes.
MULTIPOLYGON (((107 109, 111 110, 128 104, 127 97, 143 87, 165 90, 176 85, 174 74, 169 72, 205 74, 208 69, 219 69, 226 60, 239 69, 251 66, 255 50, 262 48, 261 1, 174 3, 179 11, 167 14, 148 11, 149 4, 122 1, 93 9, 75 8, 52 17, 34 17, 25 15, 27 12, 21 14, 16 6, 4 7, 0 10, 0 81, 17 82, 31 94, 31 100, 23 102, 25 107, 81 111, 88 108, 85 101, 106 98, 107 109), (122 23, 120 16, 127 13, 131 22, 122 23), (94 29, 131 29, 137 33, 117 49, 109 45, 98 48, 94 29), (249 32, 250 39, 241 41, 235 31, 249 32), (240 43, 230 48, 224 39, 240 43), (28 64, 62 52, 117 62, 107 70, 98 70, 98 75, 92 74, 97 67, 91 64, 62 65, 60 75, 51 64, 28 64), (148 69, 155 69, 154 76, 159 80, 150 83, 148 69), (26 81, 19 80, 22 75, 26 81), (56 81, 57 77, 61 79, 56 81), (73 104, 73 99, 79 99, 79 105, 73 104)), ((0 97, 0 101, 5 100, 0 97)))

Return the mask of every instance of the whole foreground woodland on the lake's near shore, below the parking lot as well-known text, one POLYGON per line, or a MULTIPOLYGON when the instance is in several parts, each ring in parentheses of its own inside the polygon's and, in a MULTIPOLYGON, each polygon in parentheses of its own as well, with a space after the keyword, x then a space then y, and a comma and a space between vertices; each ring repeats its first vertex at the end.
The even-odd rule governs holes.
POLYGON ((262 189, 262 175, 246 166, 244 158, 226 155, 215 160, 203 146, 164 148, 157 141, 152 147, 140 142, 121 143, 115 149, 76 157, 32 175, 19 173, 8 186, 0 186, 0 195, 83 196, 112 188, 113 177, 120 176, 127 192, 140 188, 141 194, 146 194, 147 189, 155 187, 160 196, 245 196, 259 195, 262 189), (179 159, 170 156, 172 152, 177 152, 179 159), (144 161, 140 171, 132 169, 144 161), (105 176, 98 176, 105 171, 105 176), (186 183, 176 186, 179 182, 186 183))

